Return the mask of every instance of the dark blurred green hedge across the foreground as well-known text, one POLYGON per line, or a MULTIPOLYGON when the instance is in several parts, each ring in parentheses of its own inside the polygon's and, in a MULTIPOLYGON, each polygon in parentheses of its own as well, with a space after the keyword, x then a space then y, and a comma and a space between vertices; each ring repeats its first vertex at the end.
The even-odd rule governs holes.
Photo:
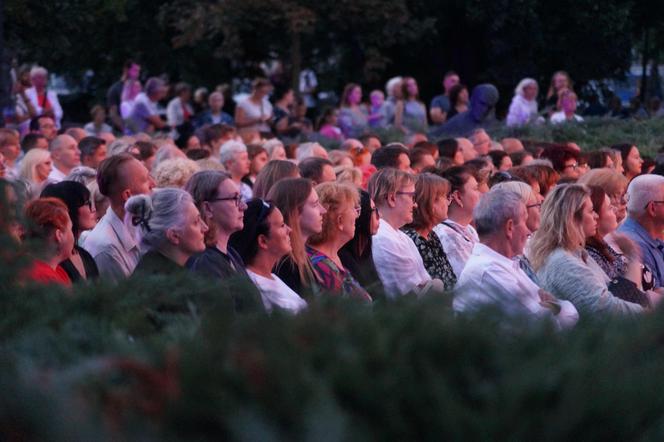
POLYGON ((2 280, 0 439, 664 436, 661 311, 556 332, 440 298, 238 315, 238 283, 2 280))

